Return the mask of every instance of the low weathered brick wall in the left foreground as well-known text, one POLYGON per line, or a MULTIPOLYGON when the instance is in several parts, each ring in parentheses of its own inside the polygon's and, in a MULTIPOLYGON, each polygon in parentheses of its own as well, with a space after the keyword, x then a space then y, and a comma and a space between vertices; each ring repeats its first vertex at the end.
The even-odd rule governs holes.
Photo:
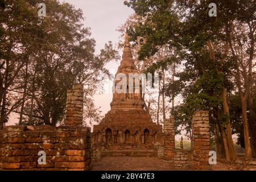
POLYGON ((77 126, 6 126, 0 130, 0 170, 89 170, 90 129, 77 126), (39 151, 46 164, 39 164, 39 151))

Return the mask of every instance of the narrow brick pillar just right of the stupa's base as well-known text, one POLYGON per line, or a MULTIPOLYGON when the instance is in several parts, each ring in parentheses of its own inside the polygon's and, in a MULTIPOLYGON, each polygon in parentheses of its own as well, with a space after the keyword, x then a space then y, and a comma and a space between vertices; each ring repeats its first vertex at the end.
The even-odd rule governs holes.
POLYGON ((164 159, 174 162, 175 155, 175 133, 174 117, 164 119, 164 159))

